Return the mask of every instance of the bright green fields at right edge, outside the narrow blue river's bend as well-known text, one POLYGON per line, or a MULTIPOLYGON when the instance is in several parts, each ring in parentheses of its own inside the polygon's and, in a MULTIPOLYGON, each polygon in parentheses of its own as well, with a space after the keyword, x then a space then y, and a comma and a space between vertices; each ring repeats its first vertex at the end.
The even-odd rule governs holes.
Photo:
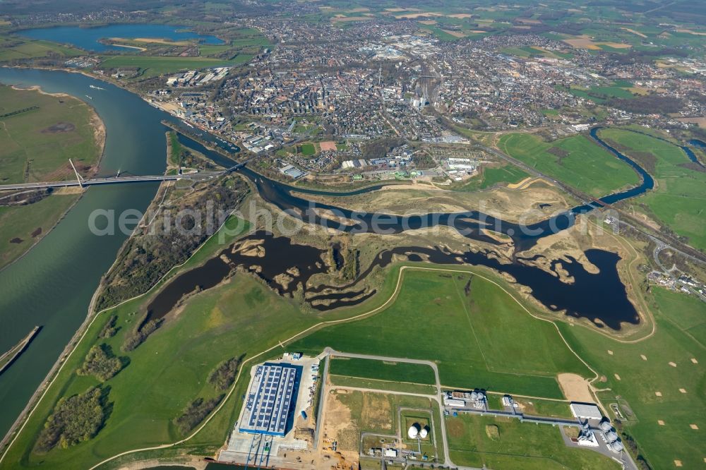
MULTIPOLYGON (((614 128, 604 129, 600 135, 627 147, 628 157, 637 158, 641 163, 650 162, 654 168, 645 169, 657 179, 657 187, 640 196, 637 202, 647 205, 651 212, 648 215, 653 215, 658 222, 686 236, 691 246, 705 250, 706 173, 681 166, 689 159, 674 144, 614 128)), ((642 166, 645 167, 645 163, 642 166)), ((640 205, 635 205, 635 209, 644 210, 640 205)))

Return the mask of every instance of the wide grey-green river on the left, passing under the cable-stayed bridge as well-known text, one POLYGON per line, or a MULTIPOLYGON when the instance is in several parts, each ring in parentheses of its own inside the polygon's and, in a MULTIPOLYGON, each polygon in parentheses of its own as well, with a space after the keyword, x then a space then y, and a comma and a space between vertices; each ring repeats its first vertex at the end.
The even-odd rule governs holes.
MULTIPOLYGON (((102 173, 162 174, 167 152, 164 113, 137 95, 79 73, 0 68, 0 82, 40 85, 95 107, 107 130, 102 173), (90 89, 94 85, 104 90, 90 89), (88 100, 85 95, 93 99, 88 100)), ((125 240, 93 236, 88 215, 96 209, 145 210, 157 183, 92 187, 66 217, 23 258, 0 271, 0 351, 35 325, 42 331, 11 368, 0 375, 0 434, 4 435, 30 395, 86 317, 100 277, 125 240)))

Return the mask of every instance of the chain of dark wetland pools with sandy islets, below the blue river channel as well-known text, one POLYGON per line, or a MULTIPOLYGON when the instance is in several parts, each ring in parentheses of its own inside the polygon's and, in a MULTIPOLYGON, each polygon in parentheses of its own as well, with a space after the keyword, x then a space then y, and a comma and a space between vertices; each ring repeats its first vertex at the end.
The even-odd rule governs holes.
MULTIPOLYGON (((334 245, 331 248, 335 249, 334 245)), ((282 296, 292 297, 299 292, 304 302, 314 310, 333 311, 370 299, 377 289, 367 286, 364 279, 374 269, 388 267, 396 259, 406 258, 408 261, 424 261, 434 265, 489 267, 510 275, 518 286, 529 288, 532 297, 549 311, 563 312, 573 318, 586 318, 599 328, 620 331, 623 324, 640 323, 640 315, 630 303, 626 287, 618 276, 617 264, 621 258, 610 251, 585 251, 587 260, 599 270, 592 273, 572 257, 566 257, 568 261, 551 260, 547 271, 528 264, 541 255, 502 263, 489 256, 489 251, 455 253, 439 247, 400 246, 378 253, 366 270, 348 284, 309 285, 314 275, 335 275, 340 270, 335 261, 333 266, 325 262, 327 253, 313 246, 293 243, 285 236, 275 236, 266 231, 253 232, 201 267, 184 272, 169 282, 150 302, 148 319, 163 318, 177 308, 186 296, 217 286, 238 269, 256 275, 282 296), (243 246, 247 250, 240 249, 243 246), (566 274, 565 277, 559 275, 560 269, 566 274), (571 282, 566 282, 567 277, 571 282)))

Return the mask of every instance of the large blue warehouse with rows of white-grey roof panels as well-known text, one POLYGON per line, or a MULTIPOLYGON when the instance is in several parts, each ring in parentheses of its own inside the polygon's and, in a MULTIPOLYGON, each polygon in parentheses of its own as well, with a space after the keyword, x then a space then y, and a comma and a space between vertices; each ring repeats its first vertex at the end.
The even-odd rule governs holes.
POLYGON ((301 366, 264 363, 250 382, 241 433, 284 436, 294 421, 301 366))

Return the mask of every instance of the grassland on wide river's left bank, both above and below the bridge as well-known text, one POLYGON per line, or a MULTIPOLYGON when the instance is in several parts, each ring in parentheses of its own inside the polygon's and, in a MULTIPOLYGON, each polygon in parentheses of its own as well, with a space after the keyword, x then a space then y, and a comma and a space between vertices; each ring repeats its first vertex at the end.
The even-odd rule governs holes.
MULTIPOLYGON (((30 107, 37 109, 0 118, 0 183, 75 179, 69 158, 84 176, 89 174, 101 144, 88 105, 0 86, 0 114, 30 107)), ((0 267, 45 236, 77 199, 78 194, 54 194, 28 205, 0 207, 0 267)))

